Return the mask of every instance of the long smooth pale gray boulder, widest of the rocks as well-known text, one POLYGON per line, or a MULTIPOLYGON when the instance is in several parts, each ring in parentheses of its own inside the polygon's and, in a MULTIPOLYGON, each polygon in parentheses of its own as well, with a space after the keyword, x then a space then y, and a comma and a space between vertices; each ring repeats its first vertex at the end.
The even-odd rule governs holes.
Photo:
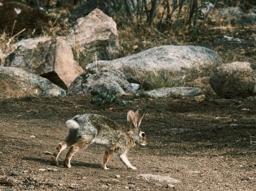
MULTIPOLYGON (((171 76, 174 81, 180 81, 192 70, 211 73, 220 64, 220 56, 205 47, 166 45, 112 61, 100 60, 97 67, 119 69, 129 82, 141 84, 147 72, 167 73, 166 75, 171 76)), ((95 62, 85 67, 90 70, 95 68, 95 62)), ((144 81, 145 83, 147 82, 144 81)))

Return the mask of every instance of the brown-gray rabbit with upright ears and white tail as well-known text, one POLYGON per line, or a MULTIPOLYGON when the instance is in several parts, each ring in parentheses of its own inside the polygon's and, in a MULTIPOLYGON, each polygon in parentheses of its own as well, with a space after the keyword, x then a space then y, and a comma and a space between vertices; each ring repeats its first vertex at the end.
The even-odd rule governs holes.
POLYGON ((129 109, 127 114, 127 122, 130 126, 129 132, 125 131, 121 125, 102 115, 88 113, 74 116, 74 118, 66 122, 69 131, 68 135, 56 147, 50 163, 58 166, 57 158, 59 154, 67 147, 70 147, 63 161, 63 166, 70 168, 70 160, 74 153, 84 147, 88 147, 90 144, 100 144, 106 148, 103 155, 102 169, 109 169, 106 164, 110 156, 116 154, 127 169, 136 170, 137 168, 130 164, 126 154, 128 149, 134 147, 136 143, 143 146, 147 144, 146 134, 143 131, 139 131, 143 116, 141 109, 136 112, 129 109))

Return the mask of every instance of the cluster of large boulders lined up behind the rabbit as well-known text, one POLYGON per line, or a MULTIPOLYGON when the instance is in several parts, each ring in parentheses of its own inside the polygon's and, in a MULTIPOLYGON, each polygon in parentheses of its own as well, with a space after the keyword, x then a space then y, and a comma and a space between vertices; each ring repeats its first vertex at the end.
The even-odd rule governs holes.
POLYGON ((195 97, 211 87, 225 98, 256 93, 255 71, 249 63, 223 64, 215 51, 205 47, 166 45, 117 58, 116 24, 99 9, 77 20, 67 38, 26 39, 16 46, 0 67, 0 98, 79 95, 92 89, 137 94, 133 83, 150 83, 145 73, 167 73, 174 81, 186 81, 193 72, 212 75, 184 82, 189 86, 146 91, 143 96, 195 97))

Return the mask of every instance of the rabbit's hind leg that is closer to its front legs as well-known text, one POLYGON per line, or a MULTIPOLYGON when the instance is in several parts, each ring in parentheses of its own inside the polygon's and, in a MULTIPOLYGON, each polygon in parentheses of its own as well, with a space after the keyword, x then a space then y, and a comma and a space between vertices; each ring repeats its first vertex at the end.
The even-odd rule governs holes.
POLYGON ((92 142, 92 140, 83 140, 80 139, 78 140, 76 143, 74 143, 69 151, 67 152, 66 158, 63 161, 63 166, 70 168, 70 160, 72 158, 72 156, 74 155, 74 153, 76 153, 77 151, 79 151, 80 149, 83 149, 84 147, 88 147, 88 145, 92 142))

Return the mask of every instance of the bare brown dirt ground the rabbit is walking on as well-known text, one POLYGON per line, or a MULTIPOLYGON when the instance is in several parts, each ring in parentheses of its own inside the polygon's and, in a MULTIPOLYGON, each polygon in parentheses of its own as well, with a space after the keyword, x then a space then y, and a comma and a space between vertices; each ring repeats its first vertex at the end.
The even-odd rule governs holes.
POLYGON ((250 144, 249 134, 256 136, 256 98, 121 100, 145 111, 141 129, 148 144, 128 152, 136 171, 127 170, 117 156, 110 158, 109 170, 102 170, 99 146, 77 152, 70 169, 62 166, 67 150, 59 167, 49 165, 50 155, 44 153, 54 151, 66 136, 65 122, 77 114, 104 115, 128 131, 128 108, 99 111, 83 96, 0 100, 0 189, 255 190, 256 144, 250 144), (140 174, 181 182, 145 180, 140 174))

